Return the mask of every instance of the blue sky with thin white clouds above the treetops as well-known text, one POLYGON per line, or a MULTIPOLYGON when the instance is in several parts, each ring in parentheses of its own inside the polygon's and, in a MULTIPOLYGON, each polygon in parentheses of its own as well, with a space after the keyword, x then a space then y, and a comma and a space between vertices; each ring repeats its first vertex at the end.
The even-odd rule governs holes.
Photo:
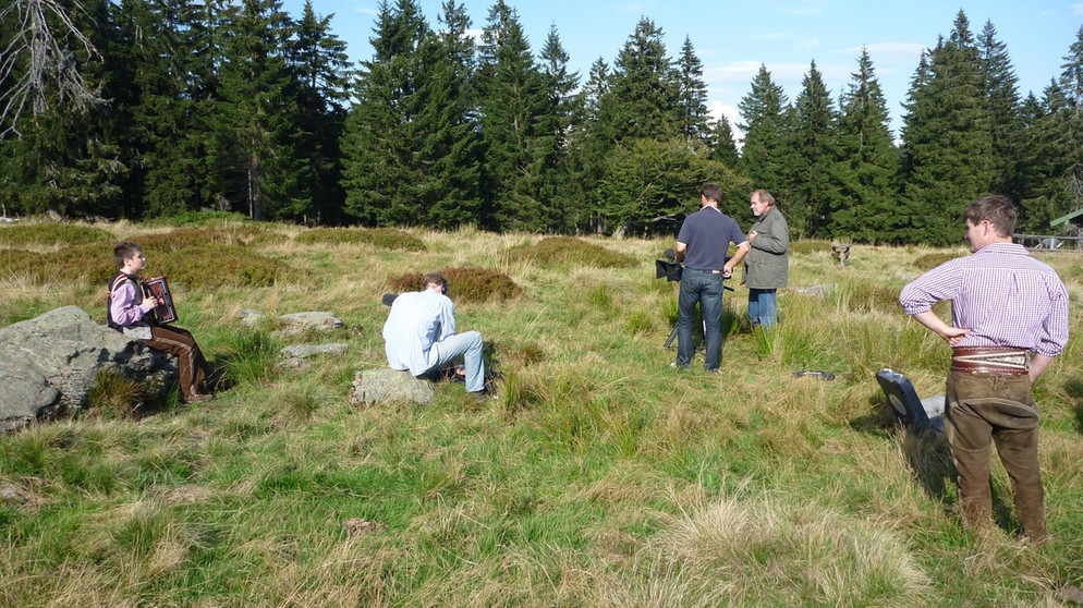
MULTIPOLYGON (((991 21, 1008 46, 1019 76, 1020 94, 1041 97, 1058 77, 1063 57, 1083 26, 1083 0, 506 0, 513 7, 535 53, 555 24, 570 68, 581 83, 601 57, 610 65, 641 16, 661 28, 670 57, 692 40, 704 64, 713 112, 740 122, 737 106, 747 95, 764 64, 790 101, 801 93, 810 62, 824 75, 836 99, 856 70, 867 47, 898 135, 901 105, 922 49, 947 36, 964 11, 976 36, 991 21)), ((394 0, 389 0, 393 5, 394 0)), ((494 0, 460 0, 474 27, 485 26, 494 0)), ((429 25, 439 27, 442 0, 421 0, 429 25)), ((304 0, 287 0, 283 9, 300 17, 304 0)), ((372 58, 378 0, 313 0, 318 15, 334 16, 331 28, 346 41, 353 61, 372 58)))

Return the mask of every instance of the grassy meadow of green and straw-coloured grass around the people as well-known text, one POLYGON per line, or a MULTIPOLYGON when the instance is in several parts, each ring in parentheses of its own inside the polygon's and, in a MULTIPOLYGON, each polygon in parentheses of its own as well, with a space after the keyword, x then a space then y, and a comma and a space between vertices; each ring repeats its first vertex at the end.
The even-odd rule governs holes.
MULTIPOLYGON (((944 392, 949 349, 896 297, 962 246, 856 245, 841 267, 794 243, 774 330, 730 281, 717 376, 702 353, 669 365, 660 239, 24 222, 0 227, 0 326, 72 304, 104 323, 121 239, 231 387, 145 403, 104 375, 83 414, 0 436, 0 606, 1061 606, 1083 586, 1083 341, 1035 387, 1044 545, 1018 537, 999 462, 997 530, 964 531, 944 442, 876 384, 891 367, 944 392), (380 295, 438 269, 499 398, 350 404, 354 373, 385 365, 380 295), (344 325, 278 331, 304 311, 344 325), (278 365, 324 342, 348 352, 278 365)), ((1080 336, 1080 254, 1041 258, 1080 336)))

